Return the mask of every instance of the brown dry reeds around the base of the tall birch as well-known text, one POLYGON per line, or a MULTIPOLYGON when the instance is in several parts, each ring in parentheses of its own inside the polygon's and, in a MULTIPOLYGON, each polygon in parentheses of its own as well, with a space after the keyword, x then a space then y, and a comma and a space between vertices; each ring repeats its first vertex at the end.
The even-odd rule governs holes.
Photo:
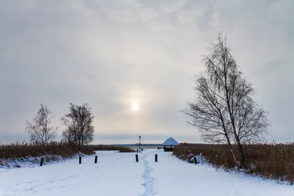
MULTIPOLYGON (((288 181, 294 184, 294 143, 245 145, 246 172, 263 178, 272 178, 278 182, 288 181)), ((234 146, 237 152, 237 146, 234 146)), ((225 145, 187 144, 174 147, 173 155, 182 160, 190 160, 194 155, 202 155, 210 164, 232 169, 234 159, 225 145)), ((237 154, 240 160, 239 154, 237 154)))

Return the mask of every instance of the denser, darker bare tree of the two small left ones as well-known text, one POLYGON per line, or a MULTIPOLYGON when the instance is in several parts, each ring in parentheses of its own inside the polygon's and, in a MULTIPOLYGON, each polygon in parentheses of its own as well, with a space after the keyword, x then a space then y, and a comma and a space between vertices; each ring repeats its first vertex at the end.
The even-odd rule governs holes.
POLYGON ((92 125, 94 116, 88 103, 74 105, 70 103, 69 113, 61 121, 66 129, 62 132, 63 141, 83 146, 93 142, 95 128, 92 125))

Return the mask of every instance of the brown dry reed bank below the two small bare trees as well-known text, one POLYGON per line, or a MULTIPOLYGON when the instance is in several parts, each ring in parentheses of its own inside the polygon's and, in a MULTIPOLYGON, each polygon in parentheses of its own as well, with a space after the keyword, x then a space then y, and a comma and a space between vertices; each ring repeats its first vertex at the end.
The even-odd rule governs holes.
POLYGON ((63 142, 51 142, 48 145, 32 143, 12 143, 0 145, 0 166, 21 167, 19 162, 40 163, 41 156, 45 162, 61 161, 76 155, 95 154, 95 150, 119 150, 121 152, 135 152, 130 147, 109 145, 77 146, 63 142))

